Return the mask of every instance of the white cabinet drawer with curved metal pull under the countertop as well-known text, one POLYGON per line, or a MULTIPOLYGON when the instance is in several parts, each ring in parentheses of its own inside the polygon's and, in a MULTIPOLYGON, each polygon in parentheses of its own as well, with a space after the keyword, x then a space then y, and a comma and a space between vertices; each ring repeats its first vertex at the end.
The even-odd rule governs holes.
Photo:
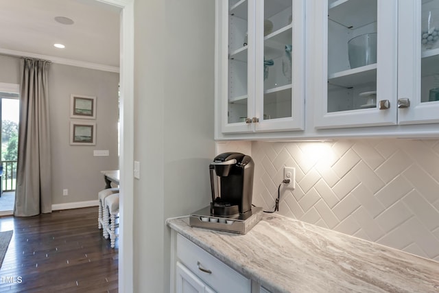
POLYGON ((251 291, 250 279, 180 234, 177 235, 177 257, 189 270, 217 292, 251 291))

